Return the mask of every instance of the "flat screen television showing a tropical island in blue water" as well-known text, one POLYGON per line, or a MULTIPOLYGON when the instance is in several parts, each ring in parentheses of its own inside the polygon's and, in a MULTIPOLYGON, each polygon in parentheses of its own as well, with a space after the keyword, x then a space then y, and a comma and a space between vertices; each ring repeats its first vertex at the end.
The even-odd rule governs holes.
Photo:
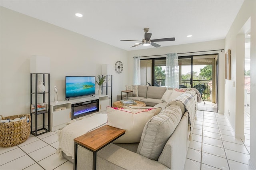
POLYGON ((66 76, 66 99, 88 95, 95 95, 95 76, 66 76))

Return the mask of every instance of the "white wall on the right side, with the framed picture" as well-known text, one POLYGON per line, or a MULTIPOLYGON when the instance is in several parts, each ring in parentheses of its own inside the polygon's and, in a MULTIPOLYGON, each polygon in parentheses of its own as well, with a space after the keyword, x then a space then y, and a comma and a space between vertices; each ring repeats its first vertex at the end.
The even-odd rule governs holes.
POLYGON ((229 119, 236 136, 243 136, 243 82, 244 75, 244 38, 241 34, 246 34, 248 29, 251 33, 251 75, 250 75, 250 161, 249 163, 256 168, 256 1, 245 0, 236 19, 234 20, 225 39, 225 51, 231 49, 231 80, 226 81, 225 85, 225 115, 229 119), (249 25, 248 25, 249 23, 249 25), (232 87, 232 82, 235 87, 232 87), (235 106, 235 107, 234 107, 235 106), (227 111, 230 110, 230 116, 227 111), (241 120, 242 118, 242 120, 241 120), (242 131, 241 131, 242 130, 242 131))

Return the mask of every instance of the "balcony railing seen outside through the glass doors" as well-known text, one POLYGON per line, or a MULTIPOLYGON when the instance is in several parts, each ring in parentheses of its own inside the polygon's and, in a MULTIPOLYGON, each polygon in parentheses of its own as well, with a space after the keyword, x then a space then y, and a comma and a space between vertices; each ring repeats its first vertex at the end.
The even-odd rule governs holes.
MULTIPOLYGON (((165 86, 165 79, 155 79, 155 85, 159 86, 165 86)), ((182 80, 181 81, 182 85, 185 85, 186 87, 191 87, 190 85, 190 80, 182 80)), ((204 98, 205 101, 212 101, 212 80, 193 80, 193 85, 206 85, 206 89, 202 93, 202 97, 204 98)))

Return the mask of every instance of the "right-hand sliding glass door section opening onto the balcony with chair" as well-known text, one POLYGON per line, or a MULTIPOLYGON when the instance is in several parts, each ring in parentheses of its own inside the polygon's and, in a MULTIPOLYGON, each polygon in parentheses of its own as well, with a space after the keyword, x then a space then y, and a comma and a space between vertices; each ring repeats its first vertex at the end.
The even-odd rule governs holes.
POLYGON ((202 97, 216 103, 216 61, 217 55, 179 57, 180 87, 205 85, 202 97))

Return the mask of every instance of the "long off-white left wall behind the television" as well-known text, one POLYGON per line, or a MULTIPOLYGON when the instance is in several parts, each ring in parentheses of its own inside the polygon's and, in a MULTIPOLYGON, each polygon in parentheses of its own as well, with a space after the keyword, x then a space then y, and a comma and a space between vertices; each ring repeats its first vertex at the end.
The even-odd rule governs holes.
POLYGON ((50 101, 55 85, 58 100, 65 98, 66 75, 97 76, 102 64, 113 65, 113 101, 127 84, 127 51, 0 7, 0 115, 4 117, 30 113, 31 55, 50 57, 50 101), (114 71, 116 61, 124 64, 120 74, 114 71))

